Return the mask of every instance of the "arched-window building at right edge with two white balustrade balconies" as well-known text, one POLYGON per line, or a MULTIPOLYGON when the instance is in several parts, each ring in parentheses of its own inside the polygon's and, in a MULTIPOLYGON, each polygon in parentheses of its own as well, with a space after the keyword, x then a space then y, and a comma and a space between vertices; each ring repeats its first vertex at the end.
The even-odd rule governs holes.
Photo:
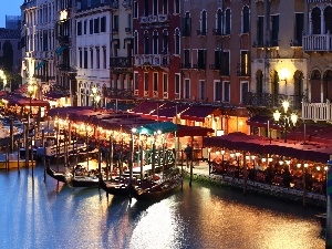
POLYGON ((302 50, 308 60, 302 118, 332 120, 332 2, 305 0, 302 50))

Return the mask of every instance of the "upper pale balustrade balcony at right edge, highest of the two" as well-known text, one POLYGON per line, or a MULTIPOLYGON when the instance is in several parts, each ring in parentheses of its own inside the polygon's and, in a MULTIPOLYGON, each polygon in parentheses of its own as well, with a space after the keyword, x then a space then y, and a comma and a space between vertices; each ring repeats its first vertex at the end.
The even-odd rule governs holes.
POLYGON ((304 51, 330 52, 332 50, 332 34, 303 35, 302 48, 304 51))

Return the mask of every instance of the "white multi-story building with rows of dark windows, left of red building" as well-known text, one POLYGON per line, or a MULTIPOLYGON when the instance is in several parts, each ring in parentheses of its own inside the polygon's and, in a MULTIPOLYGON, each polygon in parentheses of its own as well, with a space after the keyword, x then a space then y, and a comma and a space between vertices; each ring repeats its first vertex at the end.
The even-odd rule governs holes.
MULTIPOLYGON (((92 89, 100 96, 111 87, 110 58, 114 48, 114 13, 118 10, 115 0, 77 1, 75 18, 75 50, 77 104, 92 105, 92 89)), ((118 19, 117 19, 118 21, 118 19)), ((118 43, 117 43, 118 44, 118 43)), ((101 105, 105 104, 105 98, 101 105)))

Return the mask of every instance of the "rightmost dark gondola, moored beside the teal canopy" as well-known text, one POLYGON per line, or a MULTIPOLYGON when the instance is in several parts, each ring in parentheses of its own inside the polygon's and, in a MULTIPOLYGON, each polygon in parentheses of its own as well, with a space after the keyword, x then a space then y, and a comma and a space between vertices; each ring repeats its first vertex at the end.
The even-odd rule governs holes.
POLYGON ((137 200, 160 200, 177 190, 183 183, 183 174, 178 168, 165 175, 164 180, 147 180, 132 186, 131 194, 137 200))

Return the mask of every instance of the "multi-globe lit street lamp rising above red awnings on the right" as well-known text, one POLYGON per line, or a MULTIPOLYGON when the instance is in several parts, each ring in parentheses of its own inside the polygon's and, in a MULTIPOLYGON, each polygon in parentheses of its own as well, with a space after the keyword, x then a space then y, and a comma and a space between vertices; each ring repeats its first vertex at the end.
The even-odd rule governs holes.
POLYGON ((295 113, 289 112, 289 101, 284 100, 282 102, 283 112, 276 110, 273 113, 273 118, 277 124, 283 128, 284 133, 284 143, 287 143, 287 129, 289 127, 295 126, 298 122, 298 115, 295 113))

